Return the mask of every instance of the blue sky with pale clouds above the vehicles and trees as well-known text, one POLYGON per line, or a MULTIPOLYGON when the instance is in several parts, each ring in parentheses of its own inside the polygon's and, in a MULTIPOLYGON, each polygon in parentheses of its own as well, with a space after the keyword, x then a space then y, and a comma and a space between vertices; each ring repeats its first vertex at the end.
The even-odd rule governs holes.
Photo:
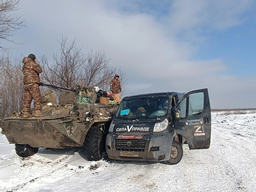
POLYGON ((256 108, 254 0, 22 0, 10 56, 49 60, 67 37, 104 51, 126 95, 208 88, 211 108, 256 108), (120 77, 121 78, 121 77, 120 77))

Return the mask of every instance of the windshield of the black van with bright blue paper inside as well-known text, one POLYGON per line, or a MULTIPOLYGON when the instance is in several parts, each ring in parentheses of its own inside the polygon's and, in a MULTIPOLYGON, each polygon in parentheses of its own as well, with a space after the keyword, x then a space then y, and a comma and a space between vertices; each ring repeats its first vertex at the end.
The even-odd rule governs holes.
POLYGON ((150 96, 127 98, 122 100, 116 112, 116 117, 133 118, 161 118, 166 115, 169 105, 168 96, 150 96))

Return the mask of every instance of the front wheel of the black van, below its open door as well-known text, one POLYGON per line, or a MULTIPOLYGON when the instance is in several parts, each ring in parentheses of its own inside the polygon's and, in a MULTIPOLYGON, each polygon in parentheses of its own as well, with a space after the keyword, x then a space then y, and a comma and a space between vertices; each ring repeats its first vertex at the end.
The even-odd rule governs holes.
POLYGON ((176 165, 181 161, 182 156, 183 156, 182 145, 179 142, 173 140, 170 159, 168 161, 165 161, 165 164, 176 165))

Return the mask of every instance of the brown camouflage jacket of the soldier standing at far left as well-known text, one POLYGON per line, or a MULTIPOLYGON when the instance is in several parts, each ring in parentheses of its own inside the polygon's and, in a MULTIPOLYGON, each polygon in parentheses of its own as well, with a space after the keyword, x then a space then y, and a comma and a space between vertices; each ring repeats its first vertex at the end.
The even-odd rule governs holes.
POLYGON ((22 67, 22 72, 24 74, 23 84, 25 85, 33 82, 39 84, 39 73, 43 72, 42 67, 29 57, 24 57, 22 63, 24 64, 22 67))

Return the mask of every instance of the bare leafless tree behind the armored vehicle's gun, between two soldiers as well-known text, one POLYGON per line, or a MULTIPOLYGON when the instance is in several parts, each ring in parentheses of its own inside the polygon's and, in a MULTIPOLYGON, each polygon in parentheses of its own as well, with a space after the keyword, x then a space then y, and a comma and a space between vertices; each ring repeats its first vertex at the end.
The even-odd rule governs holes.
POLYGON ((85 55, 81 47, 76 47, 75 40, 68 45, 67 38, 62 38, 59 43, 60 55, 54 55, 53 63, 49 63, 45 55, 39 57, 39 63, 44 69, 42 81, 64 88, 81 84, 110 91, 110 81, 116 71, 119 71, 122 73, 122 81, 126 82, 125 73, 120 68, 117 70, 117 67, 110 66, 110 59, 107 59, 104 52, 91 50, 85 55))

